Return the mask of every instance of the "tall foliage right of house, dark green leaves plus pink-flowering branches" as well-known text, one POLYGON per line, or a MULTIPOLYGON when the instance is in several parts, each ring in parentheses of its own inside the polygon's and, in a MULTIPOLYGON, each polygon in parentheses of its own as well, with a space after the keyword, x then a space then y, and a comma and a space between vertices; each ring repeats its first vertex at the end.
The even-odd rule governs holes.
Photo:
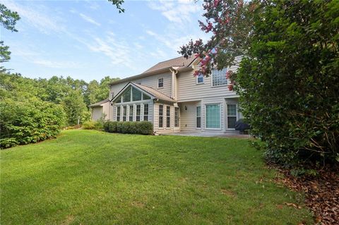
POLYGON ((225 75, 268 159, 339 162, 339 1, 205 0, 204 7, 201 27, 212 39, 181 52, 201 56, 205 75, 242 54, 239 71, 225 75))

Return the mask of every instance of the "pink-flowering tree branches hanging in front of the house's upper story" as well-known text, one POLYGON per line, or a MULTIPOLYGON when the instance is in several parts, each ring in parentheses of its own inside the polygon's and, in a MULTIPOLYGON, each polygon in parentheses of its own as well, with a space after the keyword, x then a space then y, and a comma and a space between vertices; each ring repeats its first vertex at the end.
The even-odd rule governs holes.
MULTIPOLYGON (((246 55, 249 47, 249 34, 251 32, 251 13, 255 4, 244 3, 243 0, 204 0, 203 8, 205 21, 199 21, 201 30, 211 33, 208 42, 201 39, 191 40, 181 47, 179 51, 185 57, 194 55, 201 59, 200 69, 194 73, 210 75, 212 68, 222 69, 239 63, 235 56, 246 55)), ((235 73, 227 71, 227 78, 231 81, 229 86, 233 90, 235 73)))

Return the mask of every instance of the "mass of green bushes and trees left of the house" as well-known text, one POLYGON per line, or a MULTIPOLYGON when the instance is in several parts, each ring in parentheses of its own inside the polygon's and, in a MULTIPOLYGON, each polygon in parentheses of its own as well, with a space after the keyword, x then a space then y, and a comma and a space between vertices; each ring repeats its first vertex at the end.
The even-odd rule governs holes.
POLYGON ((108 97, 112 80, 86 83, 70 77, 47 80, 0 73, 1 147, 52 138, 63 126, 89 121, 86 106, 102 100, 104 92, 108 97))

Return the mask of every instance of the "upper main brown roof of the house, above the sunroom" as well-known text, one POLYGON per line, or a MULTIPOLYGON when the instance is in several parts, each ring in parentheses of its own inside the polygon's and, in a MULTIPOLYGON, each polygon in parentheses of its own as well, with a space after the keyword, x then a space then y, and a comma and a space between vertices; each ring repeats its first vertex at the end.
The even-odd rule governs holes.
POLYGON ((170 69, 176 69, 176 70, 193 69, 191 66, 195 59, 196 58, 194 56, 191 56, 188 59, 186 59, 184 56, 180 56, 174 59, 169 59, 167 61, 162 61, 160 63, 155 64, 155 66, 152 66, 147 71, 141 74, 133 75, 129 78, 124 78, 121 80, 115 80, 111 83, 111 85, 115 85, 118 83, 124 83, 127 81, 133 81, 139 78, 147 77, 149 75, 155 75, 157 73, 169 72, 170 69))

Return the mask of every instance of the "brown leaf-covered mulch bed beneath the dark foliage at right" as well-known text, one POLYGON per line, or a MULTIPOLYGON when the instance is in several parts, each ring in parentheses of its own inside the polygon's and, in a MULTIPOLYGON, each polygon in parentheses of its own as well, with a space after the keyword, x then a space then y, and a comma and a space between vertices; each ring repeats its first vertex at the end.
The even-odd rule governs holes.
POLYGON ((305 205, 314 213, 315 224, 339 224, 338 169, 320 170, 319 176, 316 177, 295 177, 286 169, 278 168, 278 171, 283 174, 275 179, 278 183, 305 193, 305 205))

